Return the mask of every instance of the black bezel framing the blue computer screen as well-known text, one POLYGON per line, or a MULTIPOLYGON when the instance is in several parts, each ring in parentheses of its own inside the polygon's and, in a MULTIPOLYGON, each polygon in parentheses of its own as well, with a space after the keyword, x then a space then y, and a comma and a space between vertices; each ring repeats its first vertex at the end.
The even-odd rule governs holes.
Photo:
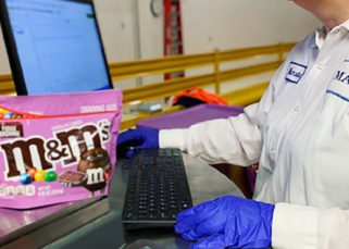
MULTIPOLYGON (((95 18, 94 18, 95 25, 97 28, 98 38, 100 41, 99 43, 101 47, 101 52, 102 52, 102 57, 103 57, 103 61, 104 61, 104 65, 105 65, 105 70, 107 70, 108 80, 109 80, 109 89, 112 89, 113 84, 112 84, 110 72, 109 72, 108 61, 107 61, 105 51, 103 48, 100 28, 99 28, 98 21, 97 21, 97 14, 96 14, 94 1, 92 0, 58 0, 58 1, 80 2, 80 3, 90 4, 92 7, 92 12, 95 15, 95 18)), ((0 0, 0 23, 1 23, 4 43, 5 43, 7 51, 8 51, 8 57, 9 57, 10 67, 12 71, 12 78, 13 78, 14 85, 15 85, 15 90, 18 96, 28 95, 25 79, 24 79, 23 69, 22 69, 18 52, 17 52, 17 47, 16 47, 14 36, 12 33, 12 28, 11 28, 11 23, 10 23, 10 18, 9 18, 9 13, 8 13, 8 9, 7 9, 5 0, 0 0)))

